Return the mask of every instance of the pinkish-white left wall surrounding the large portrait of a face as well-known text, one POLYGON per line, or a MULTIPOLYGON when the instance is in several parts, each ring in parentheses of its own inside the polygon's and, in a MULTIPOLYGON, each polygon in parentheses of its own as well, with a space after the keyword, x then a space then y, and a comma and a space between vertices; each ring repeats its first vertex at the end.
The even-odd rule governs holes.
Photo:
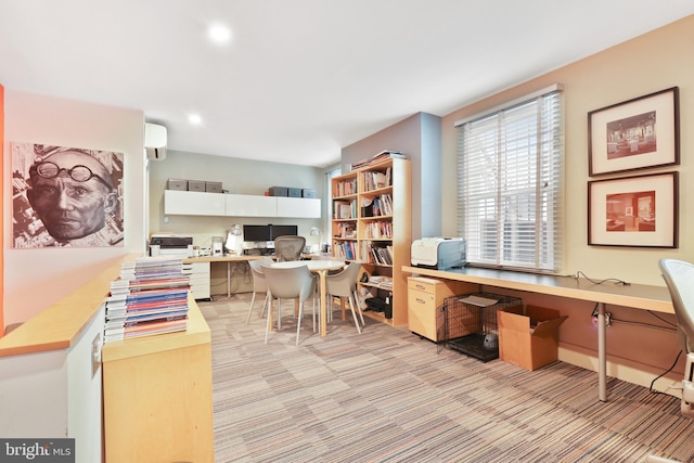
POLYGON ((11 142, 107 150, 125 156, 125 245, 99 248, 13 249, 10 156, 4 158, 4 324, 23 322, 88 282, 119 256, 145 246, 144 116, 5 88, 5 152, 11 142))

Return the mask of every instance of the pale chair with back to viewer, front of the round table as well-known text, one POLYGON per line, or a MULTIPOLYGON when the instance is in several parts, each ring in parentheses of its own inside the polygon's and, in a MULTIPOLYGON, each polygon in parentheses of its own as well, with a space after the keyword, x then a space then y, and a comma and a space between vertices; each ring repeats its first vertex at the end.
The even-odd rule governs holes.
MULTIPOLYGON (((316 279, 311 275, 308 267, 297 266, 291 268, 262 267, 268 291, 270 293, 270 310, 272 310, 272 299, 278 299, 278 327, 282 320, 282 299, 298 299, 299 310, 296 320, 296 345, 299 345, 299 332, 301 330, 301 319, 304 317, 304 303, 313 295, 316 279)), ((265 344, 268 344, 268 336, 272 329, 268 313, 266 324, 265 344)), ((316 299, 313 299, 313 332, 316 332, 316 299)))

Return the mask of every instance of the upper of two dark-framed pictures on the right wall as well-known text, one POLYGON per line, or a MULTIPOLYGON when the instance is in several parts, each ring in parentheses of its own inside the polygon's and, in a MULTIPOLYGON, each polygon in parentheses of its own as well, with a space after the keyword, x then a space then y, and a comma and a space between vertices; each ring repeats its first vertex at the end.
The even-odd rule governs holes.
POLYGON ((588 113, 591 177, 678 164, 678 87, 588 113))

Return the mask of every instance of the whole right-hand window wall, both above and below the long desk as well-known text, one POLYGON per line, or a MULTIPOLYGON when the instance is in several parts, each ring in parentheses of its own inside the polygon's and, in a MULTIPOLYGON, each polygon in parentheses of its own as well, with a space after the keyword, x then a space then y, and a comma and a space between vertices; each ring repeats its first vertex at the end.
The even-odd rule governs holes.
MULTIPOLYGON (((453 124, 505 101, 519 98, 549 85, 565 86, 565 255, 562 274, 582 271, 595 280, 617 278, 632 283, 664 286, 658 259, 664 257, 694 260, 694 214, 687 200, 694 194, 694 132, 689 130, 694 117, 694 16, 685 17, 614 48, 539 76, 481 101, 465 105, 442 118, 444 131, 444 214, 445 234, 457 231, 457 138, 453 124), (621 248, 588 246, 588 113, 593 110, 627 101, 670 87, 680 88, 680 152, 681 165, 651 171, 680 172, 679 247, 621 248)), ((492 288, 493 290, 493 288, 492 288)), ((596 369, 596 329, 592 325, 593 305, 576 300, 520 295, 526 301, 554 307, 567 314, 560 329, 560 359, 596 369), (589 357, 575 356, 576 352, 589 357), (592 356, 592 357, 591 357, 592 356)), ((616 321, 607 329, 608 374, 647 385, 655 375, 667 370, 680 347, 666 316, 663 322, 647 311, 624 307, 607 307, 616 321), (658 325, 643 327, 631 322, 658 325), (646 374, 630 377, 630 369, 646 374)), ((681 377, 682 360, 672 373, 681 377)), ((668 380, 661 384, 669 384, 668 380)))

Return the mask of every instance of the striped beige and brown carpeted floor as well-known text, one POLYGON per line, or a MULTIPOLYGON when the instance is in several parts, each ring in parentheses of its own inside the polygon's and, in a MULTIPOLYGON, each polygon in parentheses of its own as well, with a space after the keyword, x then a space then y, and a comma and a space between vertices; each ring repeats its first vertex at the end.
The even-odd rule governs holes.
POLYGON ((369 319, 359 335, 337 311, 325 338, 305 318, 296 347, 288 304, 265 345, 249 300, 198 303, 218 463, 694 461, 694 424, 671 396, 611 378, 601 402, 594 372, 483 363, 369 319))

